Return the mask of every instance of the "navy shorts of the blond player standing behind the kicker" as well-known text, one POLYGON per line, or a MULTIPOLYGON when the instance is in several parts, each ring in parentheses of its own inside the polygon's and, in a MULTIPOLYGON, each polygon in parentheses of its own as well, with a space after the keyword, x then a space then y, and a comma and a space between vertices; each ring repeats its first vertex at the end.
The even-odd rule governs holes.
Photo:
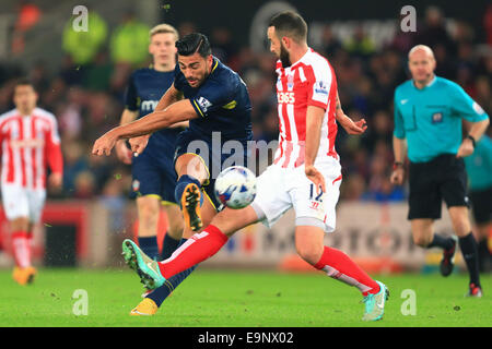
POLYGON ((152 137, 143 153, 138 157, 133 156, 131 196, 159 195, 162 202, 176 204, 174 190, 177 176, 173 161, 174 144, 156 146, 154 142, 151 142, 152 137))

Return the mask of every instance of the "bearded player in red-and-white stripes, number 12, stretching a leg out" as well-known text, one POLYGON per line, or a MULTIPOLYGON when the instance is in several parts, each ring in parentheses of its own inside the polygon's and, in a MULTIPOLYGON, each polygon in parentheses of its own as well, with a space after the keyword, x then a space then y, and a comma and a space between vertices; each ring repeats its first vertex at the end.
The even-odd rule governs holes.
MULTIPOLYGON (((157 285, 214 255, 237 230, 263 221, 272 226, 286 210, 295 210, 295 246, 301 257, 335 279, 356 287, 365 303, 364 321, 383 317, 388 290, 373 280, 343 252, 325 246, 335 230, 341 167, 335 149, 336 119, 350 119, 338 101, 337 81, 329 62, 307 46, 307 25, 294 12, 272 17, 270 50, 277 62, 280 122, 273 165, 257 179, 257 195, 243 209, 225 207, 202 232, 192 236, 162 263, 147 258, 127 241, 124 251, 139 255, 138 272, 157 285), (140 263, 142 262, 143 263, 140 263)), ((351 123, 362 133, 363 121, 351 123)))

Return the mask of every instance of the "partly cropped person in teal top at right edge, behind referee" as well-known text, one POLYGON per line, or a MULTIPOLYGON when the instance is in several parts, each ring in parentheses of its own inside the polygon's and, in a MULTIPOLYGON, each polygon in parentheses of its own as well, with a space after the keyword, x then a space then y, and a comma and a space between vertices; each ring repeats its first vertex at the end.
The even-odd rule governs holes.
POLYGON ((492 140, 485 134, 465 158, 480 272, 492 270, 492 140))

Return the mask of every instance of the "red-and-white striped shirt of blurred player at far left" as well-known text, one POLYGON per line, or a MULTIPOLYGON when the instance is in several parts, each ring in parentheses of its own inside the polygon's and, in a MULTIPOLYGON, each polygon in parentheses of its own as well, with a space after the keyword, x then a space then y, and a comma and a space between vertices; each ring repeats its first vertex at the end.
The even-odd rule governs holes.
POLYGON ((63 172, 57 120, 44 109, 30 116, 13 109, 0 116, 1 183, 46 188, 46 170, 63 172))

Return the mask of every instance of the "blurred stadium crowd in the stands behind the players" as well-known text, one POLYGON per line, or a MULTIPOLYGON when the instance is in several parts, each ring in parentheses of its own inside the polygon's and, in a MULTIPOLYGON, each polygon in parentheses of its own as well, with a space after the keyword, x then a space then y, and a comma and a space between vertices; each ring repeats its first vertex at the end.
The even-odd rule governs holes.
MULTIPOLYGON (((353 119, 368 123, 363 136, 348 136, 340 128, 337 151, 341 156, 344 181, 341 200, 400 201, 405 188, 389 183, 393 165, 393 96, 395 87, 408 79, 407 53, 415 44, 433 48, 436 74, 457 82, 490 115, 492 112, 492 8, 484 14, 479 29, 457 21, 453 35, 445 28, 438 9, 427 11, 419 34, 397 34, 389 45, 376 49, 362 26, 348 41, 339 41, 327 24, 323 46, 315 47, 333 65, 344 111, 353 119), (487 20, 489 19, 489 20, 487 20), (488 43, 483 43, 488 41, 488 43), (479 47, 488 47, 479 55, 479 47)), ((90 21, 101 21, 94 17, 90 21)), ((99 24, 99 37, 80 51, 77 40, 63 35, 66 56, 57 71, 45 62, 22 67, 0 63, 0 112, 13 108, 12 87, 19 76, 30 77, 39 93, 38 105, 54 112, 59 122, 65 157, 65 181, 52 198, 92 198, 114 201, 127 197, 131 188, 130 168, 109 158, 90 155, 93 141, 118 123, 129 74, 147 67, 148 27, 127 15, 113 32, 99 24), (138 43, 138 45, 136 44, 138 43), (131 57, 121 55, 132 47, 131 57)), ((195 31, 192 23, 178 25, 180 35, 195 31)), ((67 31, 70 32, 70 31, 67 31)), ((215 27, 209 35, 213 53, 239 72, 248 85, 253 104, 256 140, 278 137, 277 97, 274 94, 274 58, 238 47, 230 31, 215 27)), ((490 134, 490 130, 489 130, 490 134)))

